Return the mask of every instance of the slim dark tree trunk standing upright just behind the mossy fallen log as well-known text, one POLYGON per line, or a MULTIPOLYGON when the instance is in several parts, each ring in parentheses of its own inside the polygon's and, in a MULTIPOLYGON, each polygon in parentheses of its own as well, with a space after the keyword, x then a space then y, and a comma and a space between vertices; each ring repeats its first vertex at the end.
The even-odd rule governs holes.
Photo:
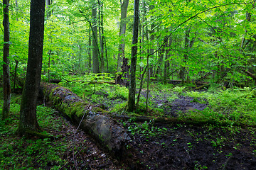
POLYGON ((139 35, 139 0, 134 0, 134 26, 132 35, 132 56, 130 69, 129 95, 127 103, 127 111, 135 110, 135 92, 136 92, 136 66, 137 66, 137 50, 139 35))

